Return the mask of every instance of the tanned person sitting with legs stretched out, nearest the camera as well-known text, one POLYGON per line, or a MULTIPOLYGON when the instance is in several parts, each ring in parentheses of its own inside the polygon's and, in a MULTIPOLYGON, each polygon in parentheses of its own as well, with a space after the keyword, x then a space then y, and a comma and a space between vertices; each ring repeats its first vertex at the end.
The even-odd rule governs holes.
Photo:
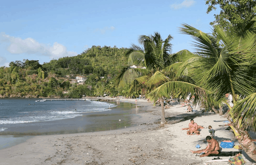
POLYGON ((199 151, 192 151, 192 150, 190 150, 190 152, 192 152, 192 153, 204 152, 205 154, 200 155, 200 157, 207 157, 210 154, 219 154, 220 153, 220 145, 217 142, 217 140, 215 140, 211 136, 206 136, 206 141, 209 143, 207 145, 206 149, 199 150, 199 151))

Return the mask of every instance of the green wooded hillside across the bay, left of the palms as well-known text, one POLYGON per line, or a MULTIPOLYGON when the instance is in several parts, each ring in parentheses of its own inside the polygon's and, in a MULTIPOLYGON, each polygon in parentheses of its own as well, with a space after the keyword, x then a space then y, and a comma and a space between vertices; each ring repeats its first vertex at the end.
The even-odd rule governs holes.
POLYGON ((114 77, 127 64, 128 51, 127 48, 92 46, 77 56, 53 59, 43 65, 38 60, 16 60, 10 67, 0 67, 0 97, 115 96, 118 89, 114 77), (78 84, 76 76, 84 76, 86 81, 78 84))

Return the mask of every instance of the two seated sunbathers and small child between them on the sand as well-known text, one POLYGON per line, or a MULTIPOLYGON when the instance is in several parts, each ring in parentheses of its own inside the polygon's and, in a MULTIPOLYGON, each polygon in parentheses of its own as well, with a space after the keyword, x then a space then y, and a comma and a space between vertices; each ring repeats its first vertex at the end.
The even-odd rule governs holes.
MULTIPOLYGON (((187 135, 200 135, 200 132, 198 129, 203 129, 203 126, 199 126, 195 123, 194 119, 190 120, 190 123, 188 124, 188 128, 182 128, 182 130, 188 130, 187 135)), ((207 157, 210 154, 219 154, 220 153, 220 145, 217 140, 215 140, 214 137, 214 129, 212 126, 208 126, 210 136, 206 136, 206 141, 208 142, 208 145, 203 150, 198 151, 192 151, 191 153, 203 153, 199 155, 199 157, 207 157)))

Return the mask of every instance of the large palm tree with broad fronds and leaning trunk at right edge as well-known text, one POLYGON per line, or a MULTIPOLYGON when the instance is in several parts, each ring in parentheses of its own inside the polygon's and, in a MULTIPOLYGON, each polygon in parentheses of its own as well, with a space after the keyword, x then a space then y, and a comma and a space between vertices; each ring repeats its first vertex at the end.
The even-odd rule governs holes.
POLYGON ((231 93, 234 107, 231 108, 226 103, 230 108, 229 115, 234 120, 232 125, 241 135, 238 142, 256 161, 256 147, 246 131, 248 126, 256 129, 254 20, 234 31, 225 31, 220 26, 215 26, 213 34, 206 34, 183 24, 180 31, 196 40, 194 45, 197 56, 183 63, 177 76, 187 74, 195 83, 166 82, 149 93, 149 97, 156 99, 173 92, 191 92, 196 95, 195 100, 218 106, 223 96, 231 93), (238 101, 237 94, 247 97, 238 101))

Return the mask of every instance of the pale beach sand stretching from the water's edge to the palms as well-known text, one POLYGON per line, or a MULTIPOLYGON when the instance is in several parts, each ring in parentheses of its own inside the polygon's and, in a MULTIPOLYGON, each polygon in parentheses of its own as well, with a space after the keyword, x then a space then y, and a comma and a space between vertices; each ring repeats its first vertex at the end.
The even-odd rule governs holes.
MULTIPOLYGON (((135 99, 120 99, 135 103, 135 99)), ((214 115, 186 113, 180 105, 166 109, 167 124, 160 128, 161 107, 153 107, 147 100, 139 99, 138 106, 150 105, 149 113, 140 114, 137 127, 113 131, 35 136, 24 143, 0 150, 0 164, 204 164, 215 157, 196 157, 189 150, 206 147, 207 128, 200 135, 188 136, 181 128, 188 127, 190 118, 198 125, 215 129, 215 139, 220 143, 230 140, 231 132, 223 125, 226 118, 214 115), (197 117, 195 117, 197 116, 197 117), (179 123, 177 123, 179 122, 179 123)), ((118 122, 118 119, 117 119, 118 122)), ((255 138, 255 134, 252 134, 255 138)), ((235 143, 238 145, 238 143, 235 143)), ((223 149, 222 151, 238 151, 223 149)), ((221 157, 229 159, 230 157, 221 157)), ((243 152, 246 164, 253 164, 243 152)), ((209 164, 228 164, 211 162, 209 164)))

